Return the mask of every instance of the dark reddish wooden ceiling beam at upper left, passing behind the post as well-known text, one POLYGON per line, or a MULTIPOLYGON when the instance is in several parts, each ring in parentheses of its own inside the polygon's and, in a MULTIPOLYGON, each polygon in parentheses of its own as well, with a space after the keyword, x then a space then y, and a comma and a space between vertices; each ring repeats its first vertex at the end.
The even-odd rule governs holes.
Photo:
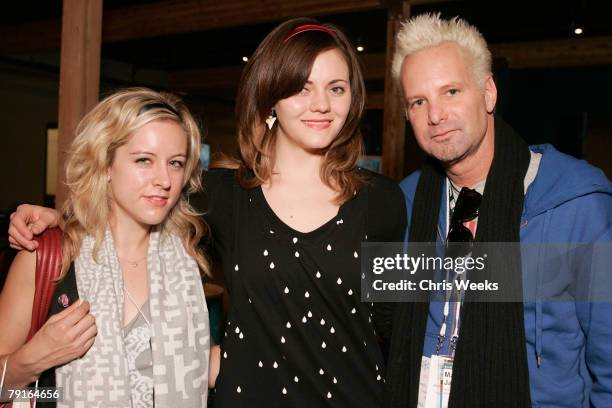
MULTIPOLYGON (((385 7, 385 0, 183 0, 105 10, 102 42, 153 38, 212 29, 385 7)), ((0 55, 59 48, 59 20, 0 27, 0 55)), ((222 39, 221 39, 222 40, 222 39)))

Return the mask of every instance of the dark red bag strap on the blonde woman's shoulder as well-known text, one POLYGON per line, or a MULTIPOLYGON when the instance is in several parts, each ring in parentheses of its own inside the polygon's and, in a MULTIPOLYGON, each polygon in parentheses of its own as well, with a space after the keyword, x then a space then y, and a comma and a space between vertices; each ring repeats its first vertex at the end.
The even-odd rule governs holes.
POLYGON ((62 269, 62 230, 49 228, 35 237, 36 250, 36 290, 32 305, 32 322, 28 340, 45 324, 51 298, 55 291, 55 281, 62 269))

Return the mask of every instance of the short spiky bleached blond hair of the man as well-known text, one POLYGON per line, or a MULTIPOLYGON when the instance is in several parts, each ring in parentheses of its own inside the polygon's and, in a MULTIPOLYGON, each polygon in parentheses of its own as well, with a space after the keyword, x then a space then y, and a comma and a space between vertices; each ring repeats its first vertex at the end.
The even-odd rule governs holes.
POLYGON ((478 29, 465 20, 454 17, 441 18, 440 13, 425 13, 402 23, 397 33, 392 72, 400 79, 404 59, 424 48, 443 43, 457 44, 472 60, 472 73, 476 83, 484 87, 485 78, 491 74, 491 51, 478 29))

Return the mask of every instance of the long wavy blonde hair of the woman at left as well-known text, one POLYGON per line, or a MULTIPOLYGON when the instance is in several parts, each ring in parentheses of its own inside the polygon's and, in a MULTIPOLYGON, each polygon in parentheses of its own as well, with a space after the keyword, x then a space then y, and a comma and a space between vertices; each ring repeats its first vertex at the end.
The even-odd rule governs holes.
POLYGON ((62 208, 62 276, 78 256, 85 235, 95 238, 93 253, 97 256, 110 214, 107 169, 113 163, 116 150, 135 131, 153 121, 176 122, 187 136, 183 191, 166 219, 155 228, 180 237, 201 271, 209 274, 209 263, 198 247, 208 227, 187 199, 189 194, 202 190, 199 127, 177 96, 147 88, 129 88, 99 102, 77 126, 66 164, 69 195, 62 208))

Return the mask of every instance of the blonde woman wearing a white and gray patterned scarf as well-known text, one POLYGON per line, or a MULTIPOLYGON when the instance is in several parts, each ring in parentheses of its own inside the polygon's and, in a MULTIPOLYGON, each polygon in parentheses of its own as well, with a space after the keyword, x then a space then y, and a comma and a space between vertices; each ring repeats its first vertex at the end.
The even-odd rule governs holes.
POLYGON ((56 367, 58 406, 206 405, 205 229, 186 200, 201 188, 199 150, 185 105, 148 89, 117 92, 81 121, 60 283, 75 281, 79 300, 25 342, 36 256, 17 255, 0 295, 5 389, 56 367))

